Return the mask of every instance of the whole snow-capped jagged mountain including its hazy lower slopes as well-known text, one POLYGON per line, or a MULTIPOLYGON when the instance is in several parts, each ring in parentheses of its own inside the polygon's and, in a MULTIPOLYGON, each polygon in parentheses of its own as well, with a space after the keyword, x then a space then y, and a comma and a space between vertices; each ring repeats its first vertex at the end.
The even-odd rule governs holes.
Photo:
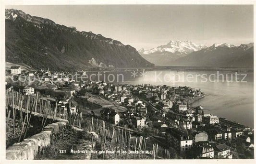
POLYGON ((147 61, 155 65, 168 65, 171 61, 204 48, 207 48, 207 46, 197 45, 190 41, 170 41, 168 44, 150 50, 142 48, 138 52, 147 61))

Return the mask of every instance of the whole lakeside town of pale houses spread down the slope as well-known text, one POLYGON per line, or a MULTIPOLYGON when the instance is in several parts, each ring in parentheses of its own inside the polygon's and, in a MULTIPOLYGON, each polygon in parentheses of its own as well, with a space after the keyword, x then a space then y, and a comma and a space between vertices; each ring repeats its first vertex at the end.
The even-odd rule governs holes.
POLYGON ((193 107, 193 102, 207 96, 199 88, 75 81, 67 72, 22 71, 21 66, 6 70, 6 76, 12 80, 24 78, 21 74, 42 80, 21 83, 7 79, 6 89, 31 96, 39 92, 43 98, 58 102, 63 113, 83 112, 138 135, 154 137, 168 144, 181 158, 254 158, 254 130, 206 114, 202 106, 193 107))

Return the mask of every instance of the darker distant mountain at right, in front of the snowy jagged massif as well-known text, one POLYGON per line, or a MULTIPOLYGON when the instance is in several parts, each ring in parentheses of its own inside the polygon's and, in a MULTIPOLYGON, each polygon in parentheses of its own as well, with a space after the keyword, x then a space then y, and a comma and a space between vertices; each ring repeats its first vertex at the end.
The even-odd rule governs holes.
POLYGON ((240 46, 213 44, 206 49, 172 61, 170 65, 253 68, 254 44, 241 44, 240 46))

